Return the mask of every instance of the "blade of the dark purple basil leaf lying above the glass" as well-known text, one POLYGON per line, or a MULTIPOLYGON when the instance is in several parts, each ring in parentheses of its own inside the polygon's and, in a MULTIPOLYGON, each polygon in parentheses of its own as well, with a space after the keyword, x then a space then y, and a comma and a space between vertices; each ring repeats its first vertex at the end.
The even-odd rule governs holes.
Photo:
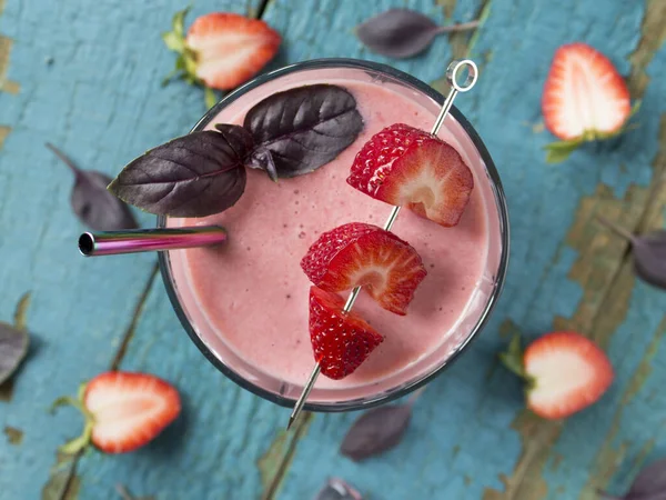
POLYGON ((392 58, 410 58, 423 52, 440 27, 422 13, 391 9, 359 26, 356 34, 370 50, 392 58))

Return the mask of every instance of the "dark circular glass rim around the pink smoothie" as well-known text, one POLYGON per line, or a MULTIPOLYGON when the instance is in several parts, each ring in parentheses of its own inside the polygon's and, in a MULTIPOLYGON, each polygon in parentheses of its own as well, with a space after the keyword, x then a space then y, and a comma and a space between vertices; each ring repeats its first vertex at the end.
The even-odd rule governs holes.
MULTIPOLYGON (((394 78, 398 80, 401 83, 406 83, 414 88, 415 90, 423 92, 425 96, 433 99, 440 106, 444 103, 444 96, 440 93, 437 90, 433 89, 431 86, 425 83, 422 80, 418 80, 415 77, 412 77, 404 71, 390 67, 387 64, 383 64, 380 62, 365 61, 361 59, 351 59, 351 58, 324 58, 324 59, 312 59, 309 61, 302 61, 285 66, 283 68, 266 72, 259 77, 255 77, 248 83, 239 87, 236 90, 230 92, 224 98, 222 98, 215 106, 213 106, 190 130, 190 133, 201 131, 204 129, 208 123, 220 113, 220 111, 225 108, 230 102, 235 101, 238 98, 242 97, 246 92, 271 81, 280 77, 284 77, 286 74, 302 71, 302 70, 313 70, 313 69, 334 69, 334 68, 350 68, 350 69, 359 69, 359 70, 370 70, 377 73, 383 73, 387 77, 394 78)), ((495 287, 488 300, 481 312, 476 324, 470 332, 470 334, 453 350, 451 356, 446 358, 442 364, 435 368, 432 372, 428 372, 415 380, 408 381, 400 388, 398 390, 387 391, 374 397, 364 397, 361 399, 353 399, 349 401, 335 401, 335 402, 306 402, 304 406, 305 411, 313 412, 344 412, 344 411, 354 411, 354 410, 363 410, 367 408, 377 407, 380 404, 384 404, 389 401, 393 401, 395 399, 402 398, 405 394, 425 386, 426 383, 434 380, 438 377, 446 368, 448 368, 461 353, 466 350, 470 343, 475 339, 478 333, 486 326, 491 312, 494 310, 500 296, 502 294, 502 290, 504 288, 504 282, 506 278, 506 271, 508 268, 508 256, 509 256, 509 223, 508 223, 508 208, 506 203, 506 196, 504 193, 504 189, 502 187, 502 181, 500 179, 500 173, 495 167, 495 163, 491 157, 491 153, 486 149, 483 140, 474 129, 474 127, 467 121, 467 119, 463 116, 463 113, 455 107, 452 106, 450 113, 452 117, 460 123, 463 128, 474 147, 476 148, 481 159, 483 160, 486 173, 491 180, 491 188, 493 194, 495 196, 495 202, 498 214, 498 224, 500 224, 500 239, 502 243, 502 252, 500 257, 500 262, 497 266, 497 274, 495 277, 495 287)), ((157 221, 158 228, 164 228, 167 226, 167 217, 158 216, 157 221)), ((271 401, 275 404, 279 404, 284 408, 293 408, 296 400, 292 398, 287 398, 274 392, 271 392, 262 387, 259 387, 251 382, 250 380, 243 378, 240 373, 236 373, 233 369, 228 367, 221 359, 219 359, 203 342, 203 340, 196 334, 194 327, 190 322, 180 300, 178 297, 178 292, 175 290, 174 280, 171 276, 170 263, 168 258, 168 252, 161 251, 158 252, 159 264, 160 264, 160 273, 162 276, 162 281, 164 282, 164 287, 167 289, 167 294, 171 301, 171 306, 175 311, 176 317, 179 318, 183 329, 194 342, 196 348, 201 351, 201 353, 226 378, 231 379, 242 389, 245 389, 255 396, 259 396, 268 401, 271 401)))

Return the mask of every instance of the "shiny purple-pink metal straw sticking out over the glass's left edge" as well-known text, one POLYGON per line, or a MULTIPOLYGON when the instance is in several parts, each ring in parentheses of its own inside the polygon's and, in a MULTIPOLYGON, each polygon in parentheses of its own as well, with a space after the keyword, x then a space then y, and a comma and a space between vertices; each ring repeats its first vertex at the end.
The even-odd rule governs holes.
POLYGON ((226 230, 220 226, 84 232, 79 237, 79 251, 85 257, 114 256, 117 253, 209 247, 224 241, 226 241, 226 230))

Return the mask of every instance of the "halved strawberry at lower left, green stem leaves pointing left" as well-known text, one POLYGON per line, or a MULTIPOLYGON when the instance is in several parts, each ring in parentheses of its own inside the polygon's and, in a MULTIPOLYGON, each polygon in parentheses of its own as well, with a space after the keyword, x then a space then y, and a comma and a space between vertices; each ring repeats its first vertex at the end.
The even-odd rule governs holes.
POLYGON ((145 373, 109 371, 79 389, 78 399, 63 397, 53 409, 71 404, 85 418, 83 433, 61 451, 73 454, 90 442, 107 453, 135 450, 154 439, 180 413, 178 391, 145 373))

